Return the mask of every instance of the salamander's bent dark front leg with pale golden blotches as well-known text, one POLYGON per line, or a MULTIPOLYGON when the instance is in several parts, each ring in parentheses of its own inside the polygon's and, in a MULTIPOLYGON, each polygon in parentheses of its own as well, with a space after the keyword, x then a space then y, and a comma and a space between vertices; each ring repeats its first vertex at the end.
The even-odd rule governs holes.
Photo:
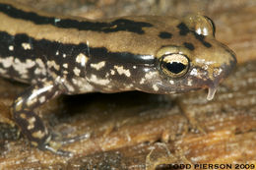
POLYGON ((60 93, 59 85, 54 84, 53 81, 44 80, 32 85, 16 98, 12 107, 12 114, 22 133, 32 142, 32 145, 57 154, 69 155, 69 152, 58 150, 57 147, 61 144, 51 142, 51 136, 47 128, 40 117, 33 112, 35 107, 60 93))

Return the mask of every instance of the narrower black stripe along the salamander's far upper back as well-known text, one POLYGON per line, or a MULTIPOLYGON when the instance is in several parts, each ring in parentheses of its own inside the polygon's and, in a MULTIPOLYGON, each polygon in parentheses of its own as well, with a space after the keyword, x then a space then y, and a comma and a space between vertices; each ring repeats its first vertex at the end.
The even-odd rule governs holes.
POLYGON ((54 17, 39 16, 33 12, 25 12, 9 4, 0 4, 0 12, 15 19, 31 21, 35 25, 52 25, 57 28, 77 28, 79 30, 93 30, 100 32, 114 32, 125 30, 135 32, 138 34, 143 34, 145 33, 143 28, 153 27, 153 25, 150 23, 135 22, 127 19, 118 19, 111 23, 94 23, 88 21, 79 22, 71 19, 59 20, 54 17))

